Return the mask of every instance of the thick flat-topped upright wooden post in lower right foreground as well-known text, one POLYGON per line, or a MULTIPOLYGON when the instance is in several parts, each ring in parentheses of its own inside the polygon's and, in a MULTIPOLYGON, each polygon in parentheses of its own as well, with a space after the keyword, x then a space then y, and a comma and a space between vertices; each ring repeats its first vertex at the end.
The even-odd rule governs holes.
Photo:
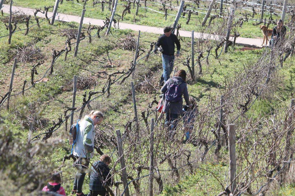
POLYGON ((230 192, 236 195, 236 147, 235 147, 235 124, 228 125, 228 153, 230 158, 230 192))

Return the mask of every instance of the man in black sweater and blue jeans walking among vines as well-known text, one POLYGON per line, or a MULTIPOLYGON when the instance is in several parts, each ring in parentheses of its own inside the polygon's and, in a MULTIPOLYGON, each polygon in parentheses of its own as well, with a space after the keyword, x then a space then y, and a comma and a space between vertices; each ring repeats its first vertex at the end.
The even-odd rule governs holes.
POLYGON ((155 44, 155 49, 162 52, 163 73, 159 83, 160 86, 163 86, 163 84, 170 78, 170 74, 173 70, 175 60, 175 44, 177 47, 176 56, 179 56, 180 42, 176 35, 171 33, 171 27, 166 26, 164 28, 164 34, 158 38, 158 41, 155 44))

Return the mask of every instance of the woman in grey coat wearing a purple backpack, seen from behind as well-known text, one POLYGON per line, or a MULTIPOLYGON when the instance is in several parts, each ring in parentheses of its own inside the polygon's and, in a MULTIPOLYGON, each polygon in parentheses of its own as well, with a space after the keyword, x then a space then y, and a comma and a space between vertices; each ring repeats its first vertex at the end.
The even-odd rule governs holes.
POLYGON ((165 100, 163 105, 163 112, 166 114, 165 127, 168 128, 168 139, 171 140, 176 133, 178 117, 182 115, 182 95, 186 105, 189 105, 186 72, 184 70, 177 71, 172 80, 170 78, 165 82, 161 92, 163 93, 163 100, 165 100))

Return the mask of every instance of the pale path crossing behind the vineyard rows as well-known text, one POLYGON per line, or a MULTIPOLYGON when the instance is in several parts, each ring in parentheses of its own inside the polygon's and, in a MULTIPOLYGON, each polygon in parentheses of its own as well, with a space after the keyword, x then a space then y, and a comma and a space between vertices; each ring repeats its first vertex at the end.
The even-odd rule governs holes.
MULTIPOLYGON (((2 10, 5 13, 9 13, 9 5, 4 4, 2 10)), ((20 10, 22 12, 24 12, 24 14, 26 14, 26 15, 34 16, 34 11, 35 11, 34 9, 12 6, 12 12, 16 12, 16 11, 20 11, 20 10)), ((53 13, 48 12, 47 15, 48 15, 48 17, 51 17, 53 15, 53 13)), ((37 16, 45 18, 45 14, 42 14, 40 12, 38 12, 37 16)), ((80 23, 81 16, 73 16, 73 15, 58 13, 58 15, 55 16, 55 20, 60 20, 60 21, 64 21, 64 22, 74 21, 74 22, 80 23)), ((89 24, 89 23, 91 23, 92 25, 102 26, 102 25, 104 25, 104 20, 84 17, 83 24, 89 24)), ((142 26, 142 25, 136 25, 136 24, 127 24, 127 23, 121 23, 121 22, 119 23, 119 29, 131 29, 133 31, 157 33, 157 34, 163 33, 163 28, 152 27, 152 26, 142 26)), ((179 34, 181 37, 191 37, 191 31, 179 30, 179 34)), ((213 35, 213 34, 207 34, 207 33, 194 32, 194 38, 218 40, 219 36, 213 35)), ((230 37, 230 40, 233 41, 233 37, 230 37)), ((261 46, 262 41, 263 41, 263 38, 261 38, 261 39, 242 38, 242 37, 236 38, 237 45, 250 47, 250 48, 262 48, 262 46, 261 46)))

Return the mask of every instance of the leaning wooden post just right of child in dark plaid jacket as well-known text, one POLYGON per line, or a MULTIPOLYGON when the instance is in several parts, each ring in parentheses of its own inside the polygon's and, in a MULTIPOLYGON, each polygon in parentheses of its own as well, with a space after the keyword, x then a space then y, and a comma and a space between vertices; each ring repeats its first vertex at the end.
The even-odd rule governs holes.
POLYGON ((124 188, 126 188, 125 196, 129 196, 129 188, 127 186, 127 174, 126 174, 125 160, 123 155, 121 132, 119 129, 116 130, 116 134, 117 134, 119 160, 120 160, 120 166, 121 166, 121 172, 122 172, 122 180, 123 180, 124 188))

